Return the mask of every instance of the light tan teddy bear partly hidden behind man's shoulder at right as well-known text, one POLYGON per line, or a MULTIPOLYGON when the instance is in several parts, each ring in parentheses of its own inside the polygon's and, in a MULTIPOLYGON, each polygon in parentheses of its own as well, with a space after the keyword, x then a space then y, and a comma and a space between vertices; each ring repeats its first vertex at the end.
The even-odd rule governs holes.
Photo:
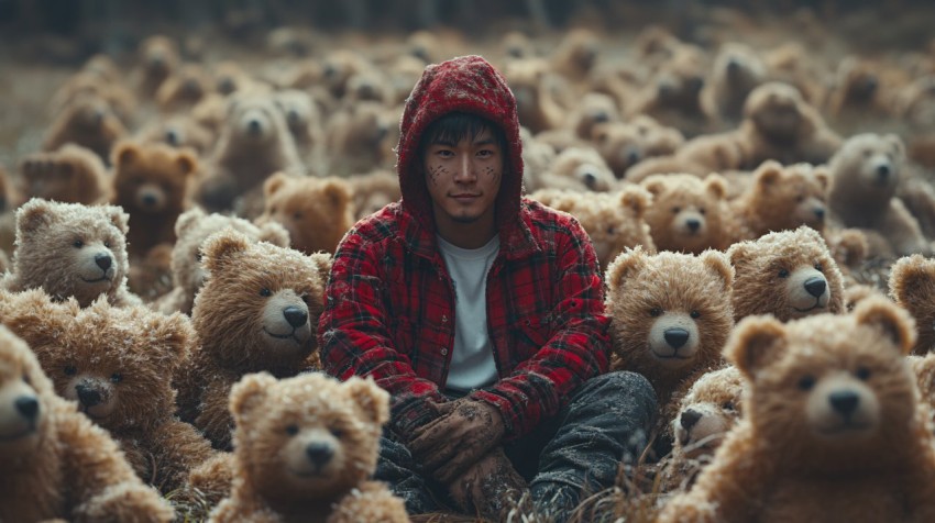
POLYGON ((597 262, 605 269, 626 247, 641 245, 647 253, 656 252, 649 225, 644 220, 652 197, 639 186, 586 196, 578 191, 541 189, 529 198, 578 219, 594 244, 597 262))

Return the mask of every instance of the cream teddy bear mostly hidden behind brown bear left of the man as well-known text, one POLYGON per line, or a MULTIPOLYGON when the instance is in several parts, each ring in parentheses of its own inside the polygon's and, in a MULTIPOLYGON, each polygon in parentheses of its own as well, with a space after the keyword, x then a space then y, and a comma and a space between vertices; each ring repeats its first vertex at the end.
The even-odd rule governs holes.
POLYGON ((152 304, 153 309, 165 314, 182 312, 191 314, 195 296, 205 285, 208 272, 201 266, 201 244, 212 234, 233 229, 246 235, 254 242, 270 242, 279 247, 289 246, 289 233, 278 223, 266 223, 256 226, 246 220, 235 216, 211 213, 206 214, 200 208, 185 211, 175 222, 175 245, 172 249, 173 289, 160 297, 152 304))

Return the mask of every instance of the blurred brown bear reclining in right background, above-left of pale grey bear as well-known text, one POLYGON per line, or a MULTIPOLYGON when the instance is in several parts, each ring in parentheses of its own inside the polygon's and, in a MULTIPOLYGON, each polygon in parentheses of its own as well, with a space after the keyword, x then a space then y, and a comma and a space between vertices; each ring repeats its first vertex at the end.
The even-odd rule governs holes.
POLYGON ((745 154, 741 169, 755 169, 768 159, 825 164, 842 146, 840 136, 798 89, 776 81, 750 91, 737 140, 745 154))

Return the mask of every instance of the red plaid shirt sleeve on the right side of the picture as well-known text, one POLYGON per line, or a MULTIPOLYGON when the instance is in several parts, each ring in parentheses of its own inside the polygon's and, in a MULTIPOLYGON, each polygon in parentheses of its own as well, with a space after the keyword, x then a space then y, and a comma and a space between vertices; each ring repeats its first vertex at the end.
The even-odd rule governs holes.
POLYGON ((609 319, 604 313, 604 282, 597 256, 575 220, 557 237, 558 297, 550 340, 514 372, 472 397, 499 409, 506 441, 519 438, 556 415, 572 391, 609 365, 609 319))

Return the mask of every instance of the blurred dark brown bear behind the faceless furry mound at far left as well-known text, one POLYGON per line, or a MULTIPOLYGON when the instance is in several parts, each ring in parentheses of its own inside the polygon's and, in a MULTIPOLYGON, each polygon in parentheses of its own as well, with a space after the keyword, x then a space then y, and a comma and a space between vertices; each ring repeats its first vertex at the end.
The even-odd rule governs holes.
POLYGON ((56 151, 72 143, 91 149, 107 162, 110 148, 127 134, 127 126, 106 99, 85 94, 55 114, 45 133, 42 149, 56 151))

